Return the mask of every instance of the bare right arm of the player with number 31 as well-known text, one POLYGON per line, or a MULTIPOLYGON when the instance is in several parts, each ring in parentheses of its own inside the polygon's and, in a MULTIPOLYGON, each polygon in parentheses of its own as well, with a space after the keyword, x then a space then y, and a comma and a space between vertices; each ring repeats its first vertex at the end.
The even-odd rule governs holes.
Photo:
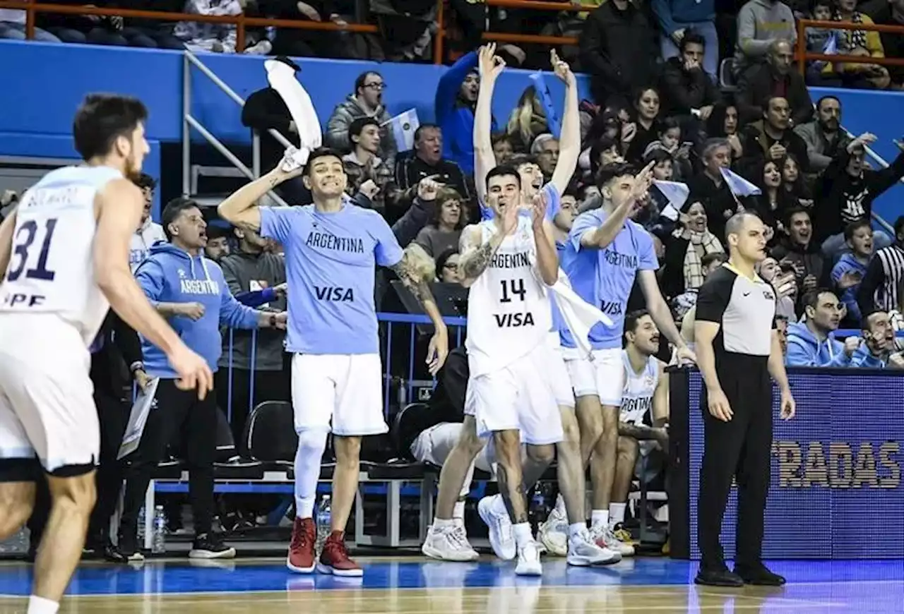
POLYGON ((144 196, 131 181, 110 181, 95 207, 94 275, 110 306, 129 326, 162 349, 180 376, 180 386, 197 387, 203 398, 213 388, 213 374, 203 358, 188 349, 158 314, 128 268, 128 244, 144 209, 144 196))

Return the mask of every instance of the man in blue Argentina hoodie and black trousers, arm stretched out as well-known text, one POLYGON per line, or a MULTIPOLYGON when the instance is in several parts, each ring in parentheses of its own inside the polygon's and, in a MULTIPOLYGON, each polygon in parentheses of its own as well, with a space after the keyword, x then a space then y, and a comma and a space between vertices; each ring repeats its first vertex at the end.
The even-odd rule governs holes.
MULTIPOLYGON (((204 256, 207 224, 193 200, 176 199, 166 205, 163 227, 169 243, 157 243, 138 267, 136 279, 189 348, 217 370, 221 354, 220 327, 285 328, 286 313, 259 312, 238 302, 223 279, 220 265, 204 256)), ((235 550, 212 532, 213 459, 216 442, 216 395, 199 399, 194 390, 176 386, 176 374, 161 349, 142 341, 145 369, 159 377, 152 409, 138 450, 128 471, 119 549, 130 560, 140 560, 137 544, 138 512, 156 463, 166 446, 184 434, 189 466, 189 499, 194 516, 193 558, 231 558, 235 550)), ((153 514, 153 510, 146 510, 153 514)))

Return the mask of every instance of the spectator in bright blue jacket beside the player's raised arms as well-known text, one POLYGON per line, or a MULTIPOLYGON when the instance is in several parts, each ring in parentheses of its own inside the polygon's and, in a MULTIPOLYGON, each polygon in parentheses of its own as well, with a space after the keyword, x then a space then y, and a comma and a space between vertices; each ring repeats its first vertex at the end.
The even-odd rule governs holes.
POLYGON ((474 174, 474 109, 479 86, 476 51, 458 58, 437 85, 435 112, 442 129, 443 158, 457 163, 466 175, 474 174))

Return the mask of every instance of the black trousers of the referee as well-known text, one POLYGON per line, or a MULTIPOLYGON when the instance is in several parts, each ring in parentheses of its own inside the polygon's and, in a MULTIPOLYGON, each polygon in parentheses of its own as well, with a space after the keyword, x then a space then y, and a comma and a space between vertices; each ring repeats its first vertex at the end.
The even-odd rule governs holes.
POLYGON ((727 423, 713 417, 704 390, 697 544, 701 567, 710 570, 724 566, 719 535, 732 479, 738 483, 735 565, 760 563, 772 450, 772 382, 766 357, 732 355, 730 364, 716 371, 733 416, 727 423))

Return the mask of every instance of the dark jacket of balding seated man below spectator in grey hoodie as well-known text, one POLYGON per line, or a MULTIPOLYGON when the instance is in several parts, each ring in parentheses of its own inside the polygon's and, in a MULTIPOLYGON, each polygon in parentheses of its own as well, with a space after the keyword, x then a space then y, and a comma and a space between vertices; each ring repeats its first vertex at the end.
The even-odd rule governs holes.
POLYGON ((796 70, 779 76, 768 64, 756 64, 746 70, 738 79, 738 115, 742 124, 756 122, 763 118, 769 98, 781 96, 791 107, 791 119, 795 126, 805 124, 813 118, 813 100, 806 88, 804 78, 796 70))

